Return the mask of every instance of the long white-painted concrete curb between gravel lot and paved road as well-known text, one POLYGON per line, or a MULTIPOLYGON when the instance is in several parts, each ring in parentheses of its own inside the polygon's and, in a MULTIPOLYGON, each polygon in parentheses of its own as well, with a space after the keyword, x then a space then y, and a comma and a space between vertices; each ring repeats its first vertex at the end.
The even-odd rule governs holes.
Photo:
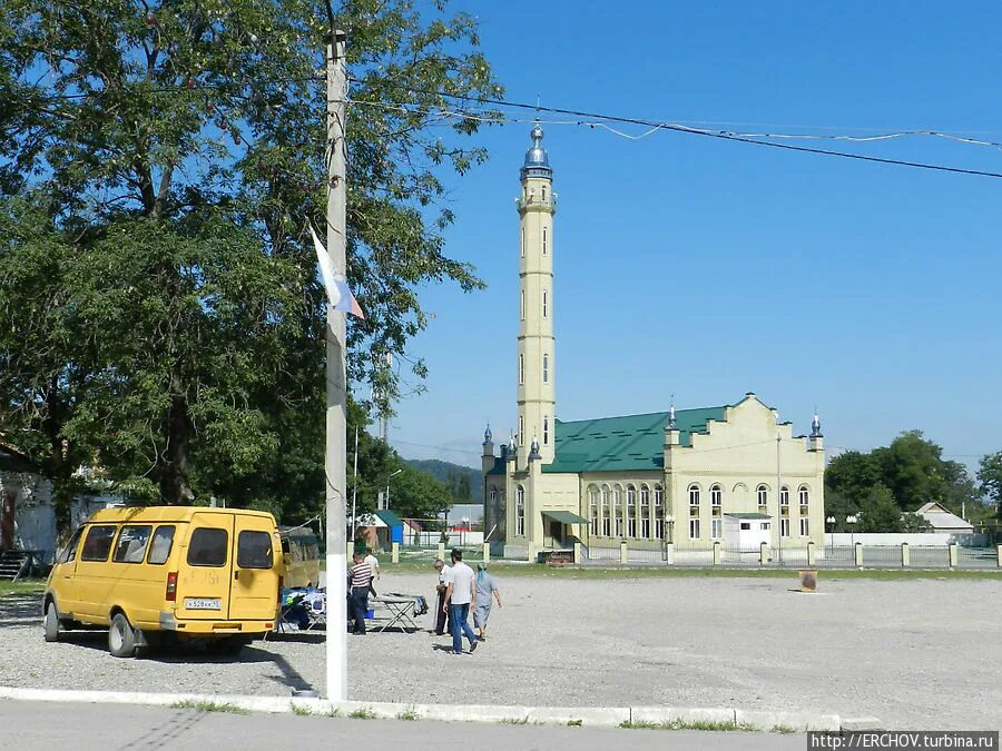
POLYGON ((79 702, 89 704, 139 704, 173 706, 178 703, 227 704, 248 712, 310 714, 379 720, 434 720, 440 722, 491 722, 502 724, 583 725, 618 728, 623 723, 719 722, 754 725, 758 730, 789 728, 797 732, 822 730, 871 730, 876 718, 842 718, 811 712, 768 712, 737 709, 679 706, 498 706, 489 704, 411 704, 397 702, 340 701, 294 696, 244 694, 136 693, 125 691, 63 691, 0 686, 0 700, 79 702))

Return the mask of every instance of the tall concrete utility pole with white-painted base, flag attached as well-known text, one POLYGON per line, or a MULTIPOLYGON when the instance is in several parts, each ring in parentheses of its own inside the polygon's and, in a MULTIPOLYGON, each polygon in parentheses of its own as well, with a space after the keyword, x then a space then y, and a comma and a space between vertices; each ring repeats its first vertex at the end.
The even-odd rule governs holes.
MULTIPOLYGON (((330 9, 328 9, 330 12, 330 9)), ((346 274, 345 231, 345 151, 344 137, 347 76, 345 75, 344 31, 335 31, 332 24, 326 45, 326 121, 327 144, 327 253, 334 270, 346 274)), ((347 600, 345 583, 345 315, 327 305, 327 419, 326 455, 324 457, 324 500, 327 513, 327 606, 334 614, 327 629, 327 699, 347 699, 347 631, 344 603, 347 600)))

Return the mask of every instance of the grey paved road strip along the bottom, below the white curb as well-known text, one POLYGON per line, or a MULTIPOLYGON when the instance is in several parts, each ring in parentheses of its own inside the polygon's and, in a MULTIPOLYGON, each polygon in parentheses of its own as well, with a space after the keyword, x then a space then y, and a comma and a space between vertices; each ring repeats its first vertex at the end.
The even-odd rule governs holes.
POLYGON ((154 706, 0 700, 0 749, 212 749, 370 748, 423 751, 472 749, 574 751, 707 749, 778 751, 806 748, 803 735, 671 730, 598 730, 541 725, 348 720, 294 714, 237 715, 154 706))

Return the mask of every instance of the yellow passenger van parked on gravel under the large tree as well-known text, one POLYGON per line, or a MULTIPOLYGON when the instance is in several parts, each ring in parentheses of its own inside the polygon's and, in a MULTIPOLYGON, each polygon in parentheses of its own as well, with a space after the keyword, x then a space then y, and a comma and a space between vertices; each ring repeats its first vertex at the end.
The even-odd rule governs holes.
POLYGON ((105 508, 73 533, 46 584, 46 641, 108 628, 118 658, 209 640, 235 654, 275 624, 282 546, 271 514, 238 508, 105 508))

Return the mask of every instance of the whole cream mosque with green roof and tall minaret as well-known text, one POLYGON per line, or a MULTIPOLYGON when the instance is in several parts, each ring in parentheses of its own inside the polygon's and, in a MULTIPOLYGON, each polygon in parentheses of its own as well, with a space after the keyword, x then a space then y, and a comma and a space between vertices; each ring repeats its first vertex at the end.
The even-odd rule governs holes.
POLYGON ((557 418, 553 170, 537 125, 521 168, 518 429, 483 441, 484 535, 495 554, 631 559, 678 550, 805 550, 824 541, 817 415, 793 434, 748 393, 733 404, 574 422, 557 418))

